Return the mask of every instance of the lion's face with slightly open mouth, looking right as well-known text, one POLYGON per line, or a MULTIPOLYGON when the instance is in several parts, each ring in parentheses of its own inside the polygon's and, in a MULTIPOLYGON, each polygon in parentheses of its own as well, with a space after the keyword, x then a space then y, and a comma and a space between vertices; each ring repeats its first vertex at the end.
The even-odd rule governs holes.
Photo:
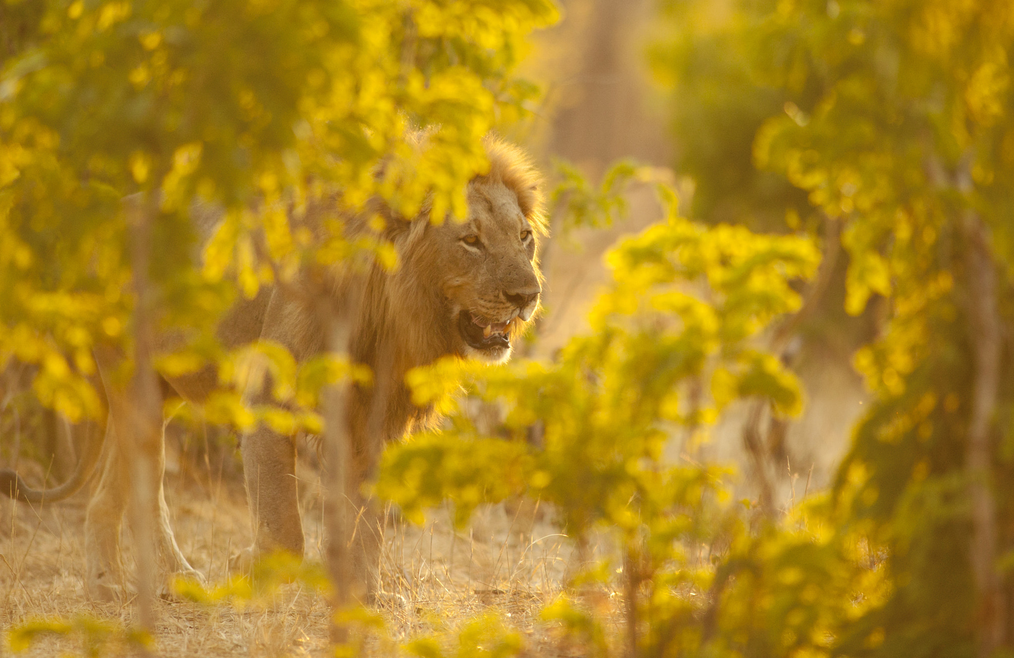
POLYGON ((538 307, 535 227, 500 180, 468 186, 468 218, 432 226, 455 352, 503 361, 538 307))

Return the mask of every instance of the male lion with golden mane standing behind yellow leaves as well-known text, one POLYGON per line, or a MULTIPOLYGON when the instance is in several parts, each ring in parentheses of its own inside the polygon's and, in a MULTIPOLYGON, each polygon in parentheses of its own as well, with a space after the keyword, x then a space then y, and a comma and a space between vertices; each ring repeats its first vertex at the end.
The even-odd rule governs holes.
MULTIPOLYGON (((522 153, 504 142, 486 142, 487 174, 466 190, 464 223, 433 224, 385 215, 383 237, 393 243, 400 268, 393 273, 372 265, 368 272, 347 277, 335 298, 355 299, 349 353, 374 373, 373 384, 353 386, 348 404, 348 436, 355 455, 353 478, 363 482, 376 465, 380 446, 397 439, 423 420, 428 410, 412 404, 405 375, 443 356, 473 357, 490 362, 507 359, 511 342, 520 336, 538 306, 540 274, 535 260, 536 235, 547 230, 537 173, 522 153)), ((367 217, 349 222, 352 235, 369 231, 367 217)), ((197 218, 199 224, 209 223, 197 218)), ((314 301, 299 286, 276 286, 242 301, 222 320, 226 345, 257 338, 275 341, 304 361, 324 349, 324 333, 314 301)), ((99 367, 102 367, 99 360, 99 367)), ((213 371, 167 382, 187 399, 200 400, 215 386, 213 371)), ((268 384, 246 391, 252 403, 268 401, 268 384)), ((94 441, 75 473, 53 490, 28 488, 13 471, 0 471, 0 492, 28 502, 69 497, 102 462, 101 477, 88 502, 85 521, 86 586, 92 596, 111 598, 122 588, 120 529, 127 500, 126 465, 110 437, 120 425, 106 423, 104 441, 94 441), (99 459, 98 447, 103 457, 99 459)), ((240 441, 243 472, 255 528, 245 560, 284 550, 303 554, 303 531, 296 500, 294 437, 261 425, 240 441)), ((160 466, 159 472, 162 467, 160 466)), ((159 563, 163 571, 196 574, 176 545, 159 478, 157 488, 159 563)), ((365 505, 366 508, 371 506, 365 505)), ((379 528, 365 516, 356 528, 354 577, 367 597, 376 591, 379 528)))

